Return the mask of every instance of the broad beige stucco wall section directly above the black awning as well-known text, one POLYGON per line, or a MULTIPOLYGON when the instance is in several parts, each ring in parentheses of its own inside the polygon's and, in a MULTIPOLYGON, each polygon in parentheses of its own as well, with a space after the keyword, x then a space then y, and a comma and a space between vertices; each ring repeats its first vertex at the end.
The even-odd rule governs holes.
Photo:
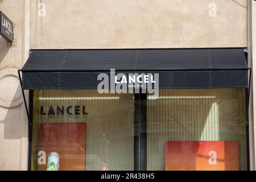
POLYGON ((246 6, 246 0, 32 0, 31 48, 246 47, 246 6), (39 3, 46 16, 38 15, 39 3), (209 16, 210 3, 216 16, 209 16))

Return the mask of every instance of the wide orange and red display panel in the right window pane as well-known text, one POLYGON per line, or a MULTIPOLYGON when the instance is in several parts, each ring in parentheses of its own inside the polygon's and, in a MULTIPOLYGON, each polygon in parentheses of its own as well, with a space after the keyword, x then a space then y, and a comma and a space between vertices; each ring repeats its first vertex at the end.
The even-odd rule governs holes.
POLYGON ((239 170, 238 142, 166 142, 166 171, 239 170))

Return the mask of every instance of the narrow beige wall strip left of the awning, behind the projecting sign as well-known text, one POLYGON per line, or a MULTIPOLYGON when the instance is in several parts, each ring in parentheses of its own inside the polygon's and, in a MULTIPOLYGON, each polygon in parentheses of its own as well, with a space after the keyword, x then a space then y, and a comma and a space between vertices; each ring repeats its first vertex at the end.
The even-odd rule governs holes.
POLYGON ((25 1, 0 1, 0 10, 14 22, 14 42, 0 36, 0 170, 27 169, 27 118, 17 73, 26 59, 25 1))

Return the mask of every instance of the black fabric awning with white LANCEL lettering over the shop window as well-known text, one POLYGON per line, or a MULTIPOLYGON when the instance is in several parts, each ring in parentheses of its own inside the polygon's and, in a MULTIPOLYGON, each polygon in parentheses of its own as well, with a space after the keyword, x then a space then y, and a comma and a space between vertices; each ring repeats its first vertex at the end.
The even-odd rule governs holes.
POLYGON ((32 50, 23 89, 96 89, 100 73, 159 73, 159 88, 247 88, 243 49, 32 50))

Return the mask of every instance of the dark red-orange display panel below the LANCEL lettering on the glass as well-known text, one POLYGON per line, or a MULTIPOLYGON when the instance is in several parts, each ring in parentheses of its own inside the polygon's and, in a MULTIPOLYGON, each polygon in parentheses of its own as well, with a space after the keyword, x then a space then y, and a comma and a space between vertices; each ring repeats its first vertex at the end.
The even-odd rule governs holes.
MULTIPOLYGON (((59 154, 59 170, 85 170, 85 123, 40 124, 39 151, 59 154)), ((46 160, 47 161, 47 160, 46 160)), ((46 170, 41 164, 39 170, 46 170)))

